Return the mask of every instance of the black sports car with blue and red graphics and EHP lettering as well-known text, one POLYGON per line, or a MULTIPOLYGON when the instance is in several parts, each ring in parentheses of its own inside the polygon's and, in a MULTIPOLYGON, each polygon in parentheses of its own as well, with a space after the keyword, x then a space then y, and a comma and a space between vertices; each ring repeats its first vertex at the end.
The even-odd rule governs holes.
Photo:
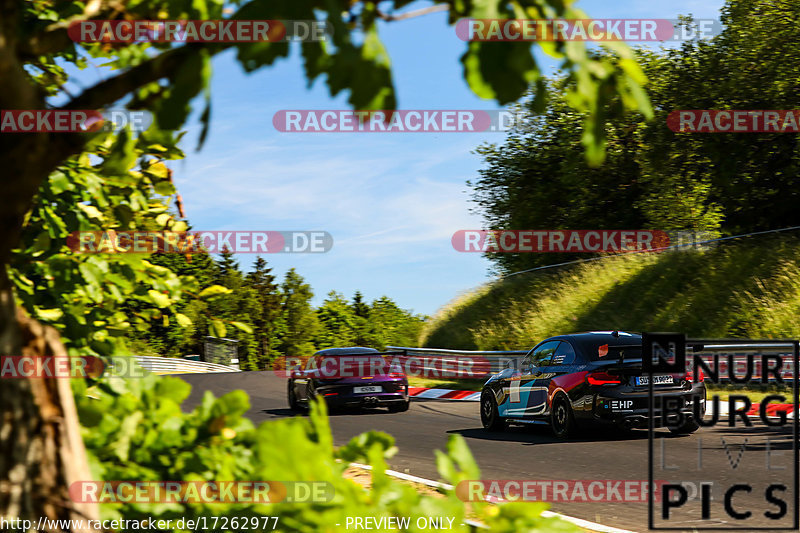
MULTIPOLYGON (((656 427, 675 433, 700 427, 696 413, 702 417, 706 402, 702 372, 654 375, 653 388, 656 427), (662 405, 667 406, 666 417, 662 405)), ((502 430, 507 423, 549 422, 560 438, 588 423, 647 428, 648 395, 641 335, 622 331, 559 335, 489 378, 481 393, 481 421, 489 430, 502 430)))

